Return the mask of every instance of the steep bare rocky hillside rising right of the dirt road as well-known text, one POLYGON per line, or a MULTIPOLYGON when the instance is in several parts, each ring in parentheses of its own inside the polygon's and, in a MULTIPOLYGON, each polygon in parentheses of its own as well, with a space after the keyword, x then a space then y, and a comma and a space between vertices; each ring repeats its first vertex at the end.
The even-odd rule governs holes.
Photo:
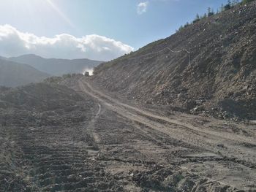
POLYGON ((146 104, 256 119, 255 31, 256 1, 101 64, 94 82, 146 104))

